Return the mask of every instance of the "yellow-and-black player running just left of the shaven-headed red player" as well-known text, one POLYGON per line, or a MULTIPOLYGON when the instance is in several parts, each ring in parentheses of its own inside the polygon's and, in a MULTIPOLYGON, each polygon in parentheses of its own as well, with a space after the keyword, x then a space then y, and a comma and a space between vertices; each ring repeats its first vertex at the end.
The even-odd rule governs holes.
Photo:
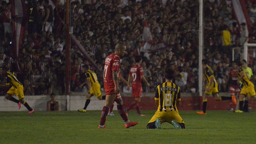
POLYGON ((86 97, 84 108, 80 109, 80 110, 77 110, 78 112, 86 112, 86 108, 90 104, 91 97, 94 96, 94 95, 99 100, 106 99, 106 96, 101 96, 100 84, 98 82, 98 78, 96 76, 96 73, 93 72, 91 69, 89 69, 89 67, 87 65, 83 66, 83 72, 86 72, 85 73, 86 81, 81 84, 81 87, 83 87, 83 85, 85 83, 87 83, 87 92, 88 92, 88 94, 87 94, 87 97, 86 97))

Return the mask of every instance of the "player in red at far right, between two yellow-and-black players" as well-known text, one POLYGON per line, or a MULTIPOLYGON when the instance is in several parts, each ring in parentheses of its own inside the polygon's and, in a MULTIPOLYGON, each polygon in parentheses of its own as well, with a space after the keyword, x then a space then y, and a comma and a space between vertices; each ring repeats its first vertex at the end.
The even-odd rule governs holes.
MULTIPOLYGON (((239 88, 239 84, 237 83, 238 68, 237 68, 236 62, 234 62, 234 61, 232 61, 232 69, 230 69, 230 71, 229 71, 228 81, 229 81, 229 85, 230 85, 229 86, 230 96, 236 97, 236 99, 238 101, 238 96, 239 96, 241 90, 239 88)), ((235 110, 238 110, 238 104, 237 104, 235 110)))

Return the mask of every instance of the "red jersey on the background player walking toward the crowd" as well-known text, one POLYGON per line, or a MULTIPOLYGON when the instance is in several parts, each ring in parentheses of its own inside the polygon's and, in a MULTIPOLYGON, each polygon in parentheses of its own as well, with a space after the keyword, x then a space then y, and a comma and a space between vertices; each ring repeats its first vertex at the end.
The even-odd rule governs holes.
POLYGON ((142 66, 136 64, 130 69, 129 75, 132 76, 132 84, 142 85, 141 76, 144 75, 142 66))

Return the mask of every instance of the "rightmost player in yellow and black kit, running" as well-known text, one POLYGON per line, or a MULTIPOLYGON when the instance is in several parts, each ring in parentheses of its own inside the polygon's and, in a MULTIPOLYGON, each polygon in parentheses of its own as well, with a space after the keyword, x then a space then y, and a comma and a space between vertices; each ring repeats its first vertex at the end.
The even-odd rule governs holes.
MULTIPOLYGON (((254 84, 250 81, 250 76, 248 76, 247 72, 245 71, 245 68, 241 67, 242 65, 244 65, 244 63, 243 64, 239 63, 240 68, 238 70, 238 77, 239 77, 238 82, 241 81, 243 84, 243 87, 239 95, 239 110, 235 111, 238 113, 243 112, 244 98, 247 97, 247 95, 249 95, 250 97, 254 97, 254 99, 256 99, 254 84)), ((248 105, 248 102, 247 102, 247 105, 248 105)))

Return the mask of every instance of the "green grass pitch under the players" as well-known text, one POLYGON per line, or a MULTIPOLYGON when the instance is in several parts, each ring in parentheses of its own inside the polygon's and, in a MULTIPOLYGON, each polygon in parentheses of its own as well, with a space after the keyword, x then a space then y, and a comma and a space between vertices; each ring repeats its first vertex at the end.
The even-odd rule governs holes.
POLYGON ((180 111, 186 129, 176 130, 169 123, 162 129, 146 129, 155 111, 146 117, 129 112, 137 126, 125 128, 117 111, 108 116, 106 127, 98 129, 101 111, 0 112, 0 143, 255 143, 256 111, 234 113, 180 111))

